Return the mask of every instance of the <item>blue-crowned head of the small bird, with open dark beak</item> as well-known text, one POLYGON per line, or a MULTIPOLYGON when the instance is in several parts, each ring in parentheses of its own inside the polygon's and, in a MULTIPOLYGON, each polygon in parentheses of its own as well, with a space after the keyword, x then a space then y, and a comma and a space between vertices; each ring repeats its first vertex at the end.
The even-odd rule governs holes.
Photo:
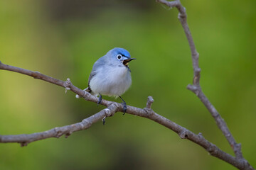
POLYGON ((125 67, 128 67, 128 64, 132 60, 136 60, 136 58, 131 58, 129 52, 125 50, 124 48, 115 47, 109 52, 107 52, 114 62, 118 62, 119 64, 123 64, 125 67))

